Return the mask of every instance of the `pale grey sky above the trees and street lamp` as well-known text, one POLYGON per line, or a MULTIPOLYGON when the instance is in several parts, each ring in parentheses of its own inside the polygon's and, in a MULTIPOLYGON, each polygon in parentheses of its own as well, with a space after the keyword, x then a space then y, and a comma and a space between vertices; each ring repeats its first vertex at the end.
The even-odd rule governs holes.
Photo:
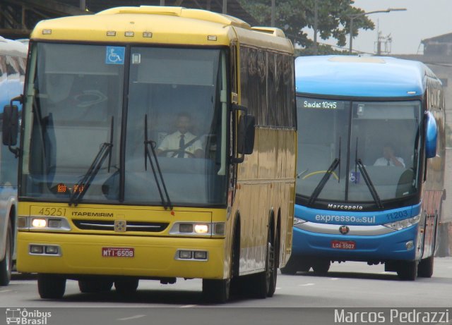
MULTIPOLYGON (((391 35, 391 54, 422 54, 422 39, 452 33, 452 0, 355 0, 352 6, 366 12, 407 9, 368 15, 375 29, 359 30, 352 42, 357 51, 375 53, 377 29, 382 36, 391 35)), ((325 41, 319 39, 319 42, 325 41)), ((334 44, 331 41, 326 43, 334 44)), ((349 46, 347 37, 347 48, 349 46)))

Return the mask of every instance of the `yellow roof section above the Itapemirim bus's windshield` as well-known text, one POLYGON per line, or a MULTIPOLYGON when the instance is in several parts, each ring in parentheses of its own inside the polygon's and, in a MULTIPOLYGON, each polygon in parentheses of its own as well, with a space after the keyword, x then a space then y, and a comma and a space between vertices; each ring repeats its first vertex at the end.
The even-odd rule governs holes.
POLYGON ((263 27, 252 29, 234 17, 181 7, 120 7, 96 15, 42 20, 30 38, 40 41, 213 47, 229 47, 231 42, 242 42, 293 53, 292 43, 281 30, 263 27), (114 32, 114 36, 107 36, 107 32, 110 35, 114 32), (126 32, 129 36, 126 36, 126 32))

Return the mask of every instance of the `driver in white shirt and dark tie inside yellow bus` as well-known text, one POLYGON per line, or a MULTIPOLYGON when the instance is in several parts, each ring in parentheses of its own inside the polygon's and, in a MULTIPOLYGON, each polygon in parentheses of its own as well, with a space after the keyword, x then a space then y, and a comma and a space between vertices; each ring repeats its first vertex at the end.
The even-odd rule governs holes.
POLYGON ((157 154, 166 157, 203 157, 203 145, 196 135, 192 134, 191 116, 188 113, 179 113, 177 115, 176 127, 174 133, 167 135, 157 148, 157 154))

